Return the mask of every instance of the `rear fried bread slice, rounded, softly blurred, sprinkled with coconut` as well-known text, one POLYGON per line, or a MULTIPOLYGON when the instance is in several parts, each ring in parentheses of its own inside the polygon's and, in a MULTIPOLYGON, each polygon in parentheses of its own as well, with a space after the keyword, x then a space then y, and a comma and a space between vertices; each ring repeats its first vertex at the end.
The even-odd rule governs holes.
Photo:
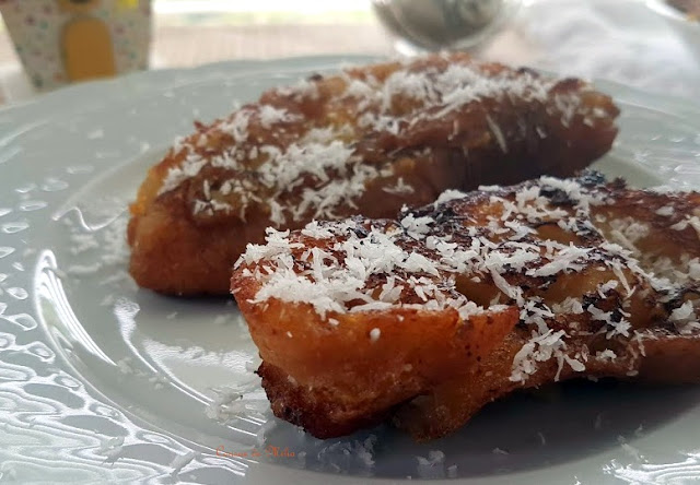
POLYGON ((130 273, 162 293, 225 294, 268 226, 394 217, 445 189, 572 175, 609 150, 617 115, 581 80, 464 54, 271 90, 150 169, 131 204, 130 273))

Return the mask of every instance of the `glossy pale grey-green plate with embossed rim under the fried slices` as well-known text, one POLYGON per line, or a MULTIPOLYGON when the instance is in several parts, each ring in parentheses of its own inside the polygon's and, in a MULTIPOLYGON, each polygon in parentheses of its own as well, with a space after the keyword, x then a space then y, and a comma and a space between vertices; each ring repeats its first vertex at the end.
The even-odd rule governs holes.
MULTIPOLYGON (((388 427, 312 439, 271 417, 229 299, 135 286, 126 205, 174 137, 267 87, 362 60, 155 71, 0 110, 0 482, 700 478, 695 387, 568 383, 495 403, 428 445, 388 427)), ((597 168, 638 186, 700 188, 700 111, 597 87, 622 108, 597 168)))

